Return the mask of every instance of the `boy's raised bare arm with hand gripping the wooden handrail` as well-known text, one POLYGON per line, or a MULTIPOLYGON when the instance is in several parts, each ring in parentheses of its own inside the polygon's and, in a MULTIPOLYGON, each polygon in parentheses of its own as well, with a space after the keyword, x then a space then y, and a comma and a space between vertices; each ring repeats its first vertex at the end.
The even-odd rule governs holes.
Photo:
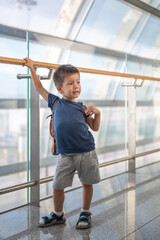
POLYGON ((33 61, 29 58, 24 58, 24 60, 26 60, 26 63, 24 64, 24 66, 30 69, 33 85, 36 91, 48 102, 49 92, 43 87, 41 81, 39 80, 36 74, 36 71, 33 67, 33 61))

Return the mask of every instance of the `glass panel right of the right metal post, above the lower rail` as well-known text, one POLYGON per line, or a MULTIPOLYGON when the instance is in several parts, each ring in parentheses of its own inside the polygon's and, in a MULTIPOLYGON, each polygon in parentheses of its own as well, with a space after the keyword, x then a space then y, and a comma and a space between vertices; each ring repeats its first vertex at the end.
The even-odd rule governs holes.
MULTIPOLYGON (((129 73, 158 77, 160 75, 159 63, 146 63, 128 61, 129 73)), ((133 81, 129 80, 130 83, 133 81)), ((142 80, 138 80, 140 84, 142 80)), ((136 88, 137 110, 136 110, 136 152, 145 152, 159 148, 159 93, 158 81, 145 80, 141 87, 136 88)))

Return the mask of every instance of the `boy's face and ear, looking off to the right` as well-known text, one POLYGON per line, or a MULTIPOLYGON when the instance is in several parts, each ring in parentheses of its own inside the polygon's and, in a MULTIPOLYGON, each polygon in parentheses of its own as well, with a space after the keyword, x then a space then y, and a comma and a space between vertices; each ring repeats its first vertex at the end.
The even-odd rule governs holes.
POLYGON ((81 84, 79 73, 71 74, 65 77, 62 86, 57 87, 63 98, 72 102, 79 97, 81 93, 81 84))

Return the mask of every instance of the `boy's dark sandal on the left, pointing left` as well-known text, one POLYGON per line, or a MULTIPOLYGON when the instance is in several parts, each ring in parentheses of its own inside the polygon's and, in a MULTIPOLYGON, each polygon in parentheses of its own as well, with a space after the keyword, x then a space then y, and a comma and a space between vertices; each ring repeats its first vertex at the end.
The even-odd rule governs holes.
POLYGON ((51 212, 49 216, 44 216, 41 218, 41 221, 38 224, 38 227, 49 227, 56 224, 65 223, 66 219, 64 218, 64 214, 59 217, 54 212, 51 212))

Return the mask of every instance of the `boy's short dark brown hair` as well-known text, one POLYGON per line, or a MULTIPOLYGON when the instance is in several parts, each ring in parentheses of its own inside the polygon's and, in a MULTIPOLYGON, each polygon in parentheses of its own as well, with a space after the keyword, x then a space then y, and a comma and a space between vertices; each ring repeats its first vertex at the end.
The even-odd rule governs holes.
POLYGON ((71 64, 61 65, 53 74, 55 86, 62 86, 64 78, 74 73, 79 73, 79 70, 76 67, 71 64))

